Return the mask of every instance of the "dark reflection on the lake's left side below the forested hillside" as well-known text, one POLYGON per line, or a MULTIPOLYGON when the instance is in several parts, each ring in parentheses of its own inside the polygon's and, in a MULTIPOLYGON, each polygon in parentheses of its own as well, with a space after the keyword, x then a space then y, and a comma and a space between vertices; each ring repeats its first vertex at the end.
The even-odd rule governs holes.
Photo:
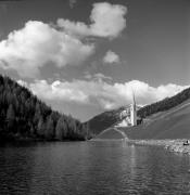
POLYGON ((27 194, 33 178, 34 150, 30 147, 0 148, 0 192, 1 194, 27 194), (27 173, 27 177, 26 177, 27 173))

